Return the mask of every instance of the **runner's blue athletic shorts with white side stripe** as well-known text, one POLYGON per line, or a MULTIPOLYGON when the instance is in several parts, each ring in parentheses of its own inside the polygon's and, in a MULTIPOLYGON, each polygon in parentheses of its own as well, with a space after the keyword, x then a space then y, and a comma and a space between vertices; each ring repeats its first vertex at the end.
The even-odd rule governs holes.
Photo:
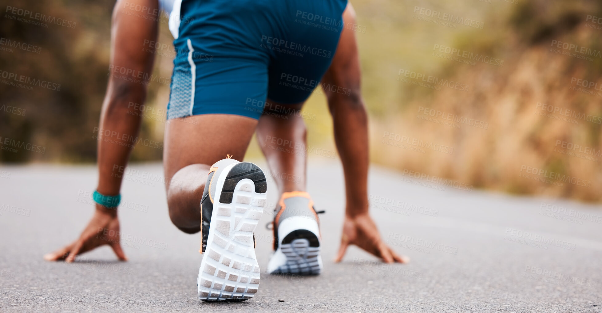
MULTIPOLYGON (((167 118, 302 103, 330 65, 347 0, 176 0, 167 118), (181 3, 179 3, 181 2, 181 3)), ((170 20, 170 26, 172 25, 170 20)))

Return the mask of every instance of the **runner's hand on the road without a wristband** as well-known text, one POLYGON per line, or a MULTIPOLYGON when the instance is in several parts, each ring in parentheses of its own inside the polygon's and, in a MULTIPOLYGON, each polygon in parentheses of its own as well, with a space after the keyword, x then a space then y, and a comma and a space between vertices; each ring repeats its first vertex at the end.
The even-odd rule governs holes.
POLYGON ((362 213, 357 216, 345 216, 343 223, 343 236, 341 236, 341 248, 335 262, 340 262, 349 245, 356 245, 365 251, 382 258, 386 263, 408 263, 409 258, 396 254, 382 239, 376 224, 370 214, 362 213))

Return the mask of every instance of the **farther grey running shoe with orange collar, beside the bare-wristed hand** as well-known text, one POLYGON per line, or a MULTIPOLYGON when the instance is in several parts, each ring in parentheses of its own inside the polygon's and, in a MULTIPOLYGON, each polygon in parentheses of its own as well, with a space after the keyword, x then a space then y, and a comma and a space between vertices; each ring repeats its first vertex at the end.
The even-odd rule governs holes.
POLYGON ((268 263, 268 273, 319 274, 323 267, 320 227, 318 212, 309 193, 283 193, 274 213, 275 252, 268 263))

